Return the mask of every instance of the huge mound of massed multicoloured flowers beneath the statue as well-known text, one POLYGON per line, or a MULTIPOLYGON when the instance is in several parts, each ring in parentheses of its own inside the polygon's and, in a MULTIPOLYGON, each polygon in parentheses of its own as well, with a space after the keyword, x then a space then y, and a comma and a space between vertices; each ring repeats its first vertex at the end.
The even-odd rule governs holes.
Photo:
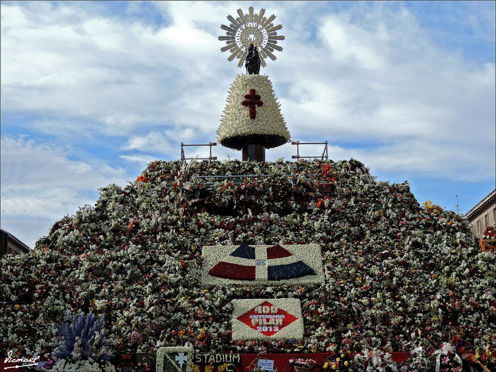
POLYGON ((455 336, 463 350, 494 351, 494 258, 462 216, 420 206, 354 159, 156 161, 56 222, 33 252, 2 258, 0 347, 49 356, 54 324, 91 311, 117 354, 429 352, 455 336), (261 252, 319 261, 322 279, 205 283, 202 248, 216 245, 276 247, 261 252), (291 250, 300 245, 320 258, 291 250), (233 340, 233 303, 246 299, 298 300, 303 336, 233 340))

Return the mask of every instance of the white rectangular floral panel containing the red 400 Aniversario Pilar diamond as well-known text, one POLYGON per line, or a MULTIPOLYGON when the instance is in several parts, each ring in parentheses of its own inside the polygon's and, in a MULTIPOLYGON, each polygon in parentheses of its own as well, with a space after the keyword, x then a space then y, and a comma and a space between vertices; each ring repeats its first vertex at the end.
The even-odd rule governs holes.
POLYGON ((233 300, 233 340, 303 338, 299 299, 233 300))

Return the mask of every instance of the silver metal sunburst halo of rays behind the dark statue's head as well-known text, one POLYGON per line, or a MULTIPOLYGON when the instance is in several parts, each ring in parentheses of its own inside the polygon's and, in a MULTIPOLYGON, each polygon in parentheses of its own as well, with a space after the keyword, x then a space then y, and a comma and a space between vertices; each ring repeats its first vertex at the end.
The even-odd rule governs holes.
POLYGON ((276 57, 272 54, 274 50, 281 52, 282 48, 277 45, 278 40, 284 40, 284 36, 277 35, 277 31, 282 28, 282 25, 274 26, 271 23, 276 16, 272 14, 270 17, 264 17, 265 9, 260 9, 258 14, 253 13, 253 6, 248 8, 248 14, 243 14, 243 10, 238 9, 239 17, 234 18, 231 15, 227 19, 231 22, 229 26, 222 25, 220 28, 226 31, 226 36, 219 36, 219 40, 225 41, 226 46, 221 48, 222 52, 230 51, 232 54, 228 57, 231 62, 238 58, 238 67, 243 66, 245 58, 248 55, 249 43, 255 43, 258 46, 258 54, 262 66, 266 66, 265 58, 270 58, 272 61, 276 57))

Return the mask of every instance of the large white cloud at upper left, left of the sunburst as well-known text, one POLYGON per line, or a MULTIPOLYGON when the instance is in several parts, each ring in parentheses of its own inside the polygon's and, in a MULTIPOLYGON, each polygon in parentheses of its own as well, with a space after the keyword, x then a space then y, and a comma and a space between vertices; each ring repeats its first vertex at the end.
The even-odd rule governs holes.
POLYGON ((28 27, 33 9, 19 9, 2 4, 8 110, 91 117, 103 124, 99 132, 125 135, 167 118, 191 82, 208 84, 211 68, 202 61, 217 54, 217 45, 204 31, 181 25, 155 31, 89 14, 77 3, 47 5, 47 19, 28 27))

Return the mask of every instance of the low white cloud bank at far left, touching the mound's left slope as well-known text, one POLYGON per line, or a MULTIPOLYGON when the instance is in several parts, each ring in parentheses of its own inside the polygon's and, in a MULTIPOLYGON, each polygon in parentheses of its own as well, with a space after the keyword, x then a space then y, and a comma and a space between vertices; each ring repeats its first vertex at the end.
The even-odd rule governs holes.
MULTIPOLYGON (((101 160, 71 160, 67 150, 33 139, 2 136, 1 154, 1 224, 9 232, 28 220, 56 221, 72 214, 94 204, 98 187, 126 180, 122 169, 101 160)), ((29 239, 48 228, 39 226, 29 239)))

